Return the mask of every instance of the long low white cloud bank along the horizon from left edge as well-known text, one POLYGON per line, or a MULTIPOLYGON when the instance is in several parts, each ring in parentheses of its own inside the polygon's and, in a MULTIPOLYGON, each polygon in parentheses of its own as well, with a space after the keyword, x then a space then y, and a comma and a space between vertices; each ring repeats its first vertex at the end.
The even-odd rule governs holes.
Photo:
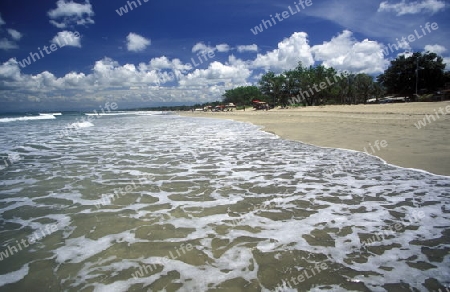
POLYGON ((194 70, 189 63, 164 56, 138 65, 121 65, 104 58, 95 62, 90 74, 70 72, 60 78, 46 71, 27 75, 20 70, 15 59, 0 64, 0 86, 11 88, 0 92, 0 103, 11 100, 12 96, 16 105, 20 101, 23 104, 29 102, 30 96, 39 97, 41 101, 65 100, 83 104, 96 102, 99 96, 108 96, 109 101, 118 103, 203 102, 221 99, 226 89, 248 85, 246 80, 252 74, 245 66, 220 62, 194 70))

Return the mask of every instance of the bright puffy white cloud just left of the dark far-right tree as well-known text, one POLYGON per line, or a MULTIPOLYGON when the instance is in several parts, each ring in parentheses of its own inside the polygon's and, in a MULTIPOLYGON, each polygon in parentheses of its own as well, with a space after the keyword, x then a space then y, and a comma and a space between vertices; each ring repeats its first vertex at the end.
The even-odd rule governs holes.
POLYGON ((325 67, 352 73, 380 74, 388 65, 383 56, 383 46, 367 39, 358 42, 353 33, 344 30, 331 41, 313 46, 316 61, 325 67))

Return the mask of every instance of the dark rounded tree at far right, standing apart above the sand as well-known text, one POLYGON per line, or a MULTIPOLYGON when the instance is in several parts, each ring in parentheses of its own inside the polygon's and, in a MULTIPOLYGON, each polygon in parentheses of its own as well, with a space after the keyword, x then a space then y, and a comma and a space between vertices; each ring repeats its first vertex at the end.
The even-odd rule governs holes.
POLYGON ((416 84, 418 92, 433 92, 443 87, 444 69, 443 59, 437 54, 414 53, 410 57, 399 56, 391 61, 389 68, 377 80, 390 93, 413 96, 416 84))

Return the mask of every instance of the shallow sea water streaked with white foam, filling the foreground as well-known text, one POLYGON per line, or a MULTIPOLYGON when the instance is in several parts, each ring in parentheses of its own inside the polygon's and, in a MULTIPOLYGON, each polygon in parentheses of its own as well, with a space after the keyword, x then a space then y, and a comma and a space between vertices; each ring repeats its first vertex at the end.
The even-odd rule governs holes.
POLYGON ((450 286, 450 177, 227 120, 80 118, 0 117, 0 291, 450 286))

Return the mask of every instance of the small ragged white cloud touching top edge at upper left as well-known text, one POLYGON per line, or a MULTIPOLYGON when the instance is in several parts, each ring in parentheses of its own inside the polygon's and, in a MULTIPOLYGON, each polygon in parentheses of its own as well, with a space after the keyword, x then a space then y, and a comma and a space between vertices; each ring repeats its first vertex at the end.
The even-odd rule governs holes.
POLYGON ((95 13, 89 0, 86 0, 84 4, 75 3, 72 0, 58 0, 56 6, 55 9, 50 10, 47 14, 50 17, 50 23, 57 28, 94 23, 91 17, 95 13))

